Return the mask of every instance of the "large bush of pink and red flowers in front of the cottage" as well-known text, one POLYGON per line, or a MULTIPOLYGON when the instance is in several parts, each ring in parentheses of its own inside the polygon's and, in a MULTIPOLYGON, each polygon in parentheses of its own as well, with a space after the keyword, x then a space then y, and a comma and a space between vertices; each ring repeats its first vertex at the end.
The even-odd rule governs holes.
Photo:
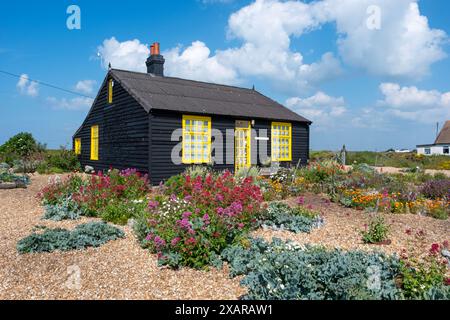
POLYGON ((262 201, 252 178, 189 175, 173 178, 165 194, 149 203, 144 246, 158 253, 159 263, 170 267, 204 268, 215 264, 220 252, 256 226, 262 201), (173 182, 179 186, 171 194, 173 182))

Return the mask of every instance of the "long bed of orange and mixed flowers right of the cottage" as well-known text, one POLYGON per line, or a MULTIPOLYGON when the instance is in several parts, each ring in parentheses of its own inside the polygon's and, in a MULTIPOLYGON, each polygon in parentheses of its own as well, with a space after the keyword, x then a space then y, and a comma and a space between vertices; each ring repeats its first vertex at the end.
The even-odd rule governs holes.
POLYGON ((447 219, 450 179, 421 172, 380 174, 367 165, 347 172, 332 161, 312 163, 299 170, 284 169, 263 179, 266 200, 282 200, 302 191, 327 193, 344 206, 385 213, 413 213, 447 219))

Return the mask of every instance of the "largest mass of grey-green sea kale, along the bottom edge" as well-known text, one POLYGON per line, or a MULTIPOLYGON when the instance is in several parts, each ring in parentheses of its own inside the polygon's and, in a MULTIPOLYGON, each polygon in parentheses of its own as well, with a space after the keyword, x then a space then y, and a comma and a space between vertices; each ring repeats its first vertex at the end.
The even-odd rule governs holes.
POLYGON ((379 253, 301 247, 274 239, 251 241, 222 253, 231 275, 245 275, 244 299, 368 300, 400 299, 395 279, 399 260, 379 253))

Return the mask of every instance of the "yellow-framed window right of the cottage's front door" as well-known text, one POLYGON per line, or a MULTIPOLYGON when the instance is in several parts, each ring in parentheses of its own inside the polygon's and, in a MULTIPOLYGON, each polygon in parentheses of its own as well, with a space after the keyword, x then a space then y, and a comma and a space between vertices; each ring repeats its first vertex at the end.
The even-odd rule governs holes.
POLYGON ((292 124, 272 122, 272 161, 292 161, 292 124))

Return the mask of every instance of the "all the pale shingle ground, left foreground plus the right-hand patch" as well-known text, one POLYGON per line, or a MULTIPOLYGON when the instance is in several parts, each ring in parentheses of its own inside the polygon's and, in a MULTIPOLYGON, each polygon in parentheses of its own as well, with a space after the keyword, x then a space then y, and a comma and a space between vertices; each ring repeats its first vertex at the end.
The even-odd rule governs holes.
MULTIPOLYGON (((16 243, 36 225, 73 228, 89 220, 43 221, 43 208, 35 198, 47 184, 47 176, 36 175, 28 189, 0 190, 0 299, 237 299, 245 294, 239 279, 229 279, 228 270, 173 271, 157 267, 156 257, 137 244, 132 231, 126 238, 84 251, 19 255, 16 243), (80 272, 80 287, 74 275, 80 272)), ((294 200, 291 200, 293 204, 294 200)), ((254 236, 299 243, 323 244, 344 249, 383 250, 387 253, 411 248, 415 255, 428 252, 432 243, 449 239, 450 221, 415 215, 389 215, 392 244, 368 246, 360 230, 367 214, 328 204, 315 195, 306 203, 319 209, 326 225, 311 234, 258 230, 254 236), (411 235, 406 233, 411 229, 411 235), (423 231, 423 236, 417 236, 423 231)))

